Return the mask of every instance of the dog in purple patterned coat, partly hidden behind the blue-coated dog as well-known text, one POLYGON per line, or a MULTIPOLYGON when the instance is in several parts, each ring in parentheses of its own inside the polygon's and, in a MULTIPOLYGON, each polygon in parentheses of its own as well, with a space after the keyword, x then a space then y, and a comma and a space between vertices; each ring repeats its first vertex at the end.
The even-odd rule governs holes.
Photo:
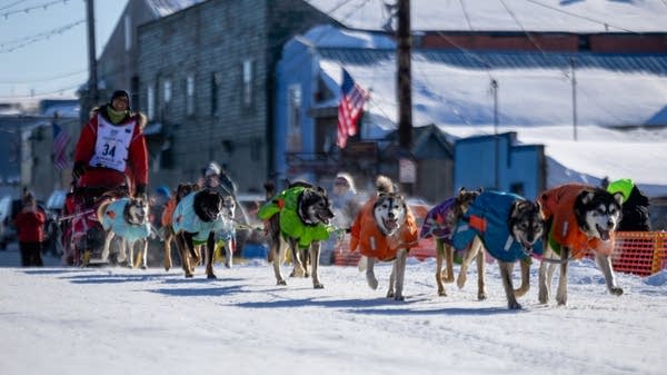
POLYGON ((468 210, 468 206, 479 196, 480 190, 466 190, 460 188, 459 193, 431 208, 421 226, 419 237, 432 236, 436 239, 436 283, 438 295, 447 296, 444 283, 454 283, 454 247, 451 247, 451 234, 461 216, 468 210), (442 269, 445 261, 446 268, 442 269))

